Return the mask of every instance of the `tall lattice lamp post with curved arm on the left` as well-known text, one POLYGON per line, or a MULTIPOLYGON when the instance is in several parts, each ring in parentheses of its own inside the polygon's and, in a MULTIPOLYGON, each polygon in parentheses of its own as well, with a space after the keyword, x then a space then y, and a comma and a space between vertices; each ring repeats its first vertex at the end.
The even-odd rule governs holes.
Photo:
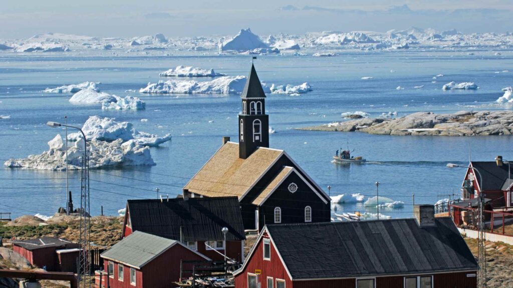
MULTIPOLYGON (((84 288, 86 288, 86 285, 90 288, 91 283, 89 281, 86 281, 86 276, 90 275, 90 265, 88 261, 88 257, 90 255, 91 251, 91 219, 90 219, 90 201, 89 201, 89 163, 87 159, 87 140, 86 140, 86 134, 82 129, 67 125, 67 124, 61 124, 59 122, 53 122, 48 121, 46 125, 57 128, 57 127, 69 127, 74 128, 80 133, 82 133, 82 136, 84 137, 84 156, 82 158, 82 177, 81 177, 81 211, 80 211, 80 245, 81 245, 81 252, 78 255, 78 274, 79 277, 82 278, 84 281, 84 288)), ((68 141, 66 136, 66 141, 68 141)), ((67 152, 67 150, 66 150, 67 152)), ((66 160, 67 164, 67 160, 66 160)))

